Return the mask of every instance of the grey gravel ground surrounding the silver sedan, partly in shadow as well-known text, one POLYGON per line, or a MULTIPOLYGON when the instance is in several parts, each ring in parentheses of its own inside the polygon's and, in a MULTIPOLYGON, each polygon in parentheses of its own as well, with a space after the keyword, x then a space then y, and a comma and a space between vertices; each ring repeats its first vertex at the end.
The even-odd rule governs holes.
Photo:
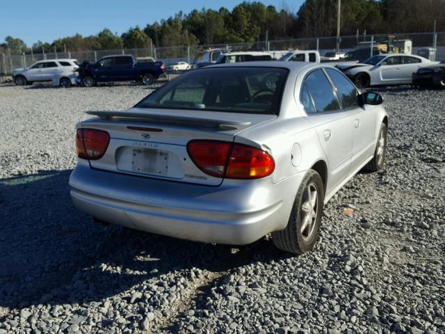
POLYGON ((325 206, 291 256, 77 212, 74 125, 149 90, 0 87, 0 334, 445 333, 445 90, 385 88, 387 164, 325 206))

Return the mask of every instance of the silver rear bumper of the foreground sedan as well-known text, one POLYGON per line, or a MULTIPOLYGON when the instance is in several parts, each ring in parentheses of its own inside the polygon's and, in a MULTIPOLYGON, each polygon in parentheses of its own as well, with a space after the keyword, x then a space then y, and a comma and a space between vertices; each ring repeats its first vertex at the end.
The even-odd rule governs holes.
POLYGON ((75 207, 90 216, 146 232, 217 244, 250 244, 286 227, 304 173, 218 187, 165 182, 76 166, 75 207))

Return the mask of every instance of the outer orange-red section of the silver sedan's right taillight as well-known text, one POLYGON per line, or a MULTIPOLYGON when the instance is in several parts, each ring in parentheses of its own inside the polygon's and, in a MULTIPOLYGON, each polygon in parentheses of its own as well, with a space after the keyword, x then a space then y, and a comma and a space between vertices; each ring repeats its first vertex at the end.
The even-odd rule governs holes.
POLYGON ((230 154, 225 177, 230 179, 259 179, 275 170, 275 161, 269 154, 248 145, 235 144, 230 154))

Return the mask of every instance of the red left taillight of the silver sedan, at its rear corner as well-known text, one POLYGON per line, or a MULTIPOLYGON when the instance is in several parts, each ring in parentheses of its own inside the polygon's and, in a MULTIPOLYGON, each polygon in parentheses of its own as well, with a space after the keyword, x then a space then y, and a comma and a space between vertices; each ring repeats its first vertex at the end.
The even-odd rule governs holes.
POLYGON ((77 129, 76 151, 82 159, 97 160, 102 158, 110 143, 108 132, 96 129, 77 129))

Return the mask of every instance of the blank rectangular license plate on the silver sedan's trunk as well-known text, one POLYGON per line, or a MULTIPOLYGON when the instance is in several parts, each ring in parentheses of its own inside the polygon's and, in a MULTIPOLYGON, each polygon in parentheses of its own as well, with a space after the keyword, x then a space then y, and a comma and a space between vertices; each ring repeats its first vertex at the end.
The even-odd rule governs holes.
POLYGON ((133 172, 168 176, 168 152, 133 149, 133 172))

